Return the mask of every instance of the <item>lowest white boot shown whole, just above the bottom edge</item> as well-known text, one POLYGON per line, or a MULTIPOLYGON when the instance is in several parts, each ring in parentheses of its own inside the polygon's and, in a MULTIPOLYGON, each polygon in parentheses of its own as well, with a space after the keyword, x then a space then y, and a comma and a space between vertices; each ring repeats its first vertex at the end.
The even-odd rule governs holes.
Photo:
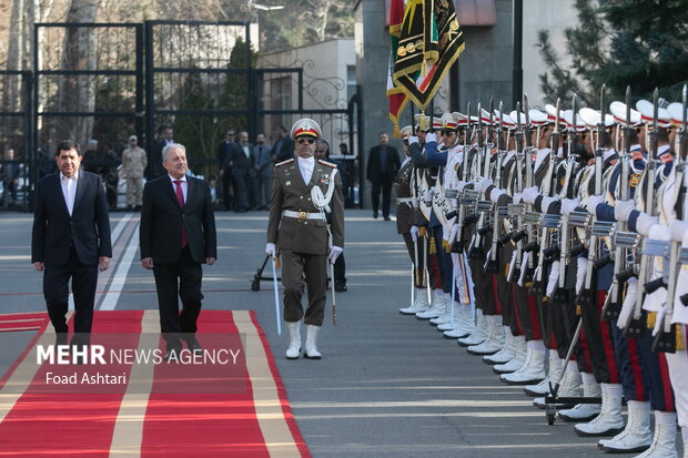
POLYGON ((611 439, 601 439, 597 447, 609 454, 637 454, 652 444, 650 401, 629 400, 626 428, 611 439))

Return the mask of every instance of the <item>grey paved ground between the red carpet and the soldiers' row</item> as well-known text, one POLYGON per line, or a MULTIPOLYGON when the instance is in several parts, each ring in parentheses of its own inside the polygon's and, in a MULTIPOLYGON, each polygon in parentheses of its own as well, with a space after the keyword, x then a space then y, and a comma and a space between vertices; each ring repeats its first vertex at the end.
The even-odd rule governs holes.
MULTIPOLYGON (((156 307, 153 277, 138 263, 136 215, 114 213, 119 264, 97 307, 156 307), (131 264, 130 264, 131 262, 131 264), (118 286, 121 284, 121 288, 118 286), (121 294, 119 291, 121 289, 121 294)), ((393 222, 346 213, 348 292, 330 311, 320 362, 283 358, 271 284, 251 291, 264 255, 266 213, 217 213, 219 262, 205 268, 204 307, 253 309, 269 335, 301 431, 315 457, 580 457, 604 455, 570 425, 547 426, 543 410, 492 368, 425 322, 398 314, 409 295, 409 263, 393 222)), ((30 265, 31 216, 0 214, 2 312, 44 311, 30 265)), ((0 333, 0 374, 29 333, 0 333)))

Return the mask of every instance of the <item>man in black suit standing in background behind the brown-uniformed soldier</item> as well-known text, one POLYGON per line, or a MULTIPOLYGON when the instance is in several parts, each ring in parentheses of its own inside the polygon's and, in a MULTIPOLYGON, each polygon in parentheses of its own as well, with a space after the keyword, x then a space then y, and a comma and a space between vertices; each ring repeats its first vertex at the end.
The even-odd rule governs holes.
POLYGON ((382 189, 382 215, 389 221, 389 200, 392 183, 401 166, 399 155, 394 146, 389 146, 389 136, 380 134, 380 144, 373 146, 368 154, 367 179, 371 182, 373 197, 373 217, 377 218, 380 210, 380 191, 382 189))

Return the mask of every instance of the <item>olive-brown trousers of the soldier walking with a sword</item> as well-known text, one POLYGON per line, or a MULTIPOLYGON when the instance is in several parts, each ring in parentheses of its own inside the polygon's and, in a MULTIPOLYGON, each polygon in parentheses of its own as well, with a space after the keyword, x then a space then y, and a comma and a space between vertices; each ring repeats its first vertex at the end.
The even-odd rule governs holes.
POLYGON ((301 297, 306 286, 308 306, 304 323, 322 326, 325 316, 327 256, 282 250, 282 284, 284 285, 284 320, 294 323, 304 317, 301 297))

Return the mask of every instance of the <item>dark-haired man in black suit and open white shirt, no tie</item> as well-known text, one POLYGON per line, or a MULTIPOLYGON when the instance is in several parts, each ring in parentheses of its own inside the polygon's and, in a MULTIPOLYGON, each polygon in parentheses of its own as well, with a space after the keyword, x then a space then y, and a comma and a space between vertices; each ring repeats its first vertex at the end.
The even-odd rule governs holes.
POLYGON ((108 269, 112 257, 103 183, 99 175, 79 171, 81 160, 75 142, 60 142, 59 172, 36 187, 31 262, 43 272, 43 296, 59 344, 67 344, 70 278, 78 334, 72 345, 85 344, 93 323, 98 271, 108 269))

